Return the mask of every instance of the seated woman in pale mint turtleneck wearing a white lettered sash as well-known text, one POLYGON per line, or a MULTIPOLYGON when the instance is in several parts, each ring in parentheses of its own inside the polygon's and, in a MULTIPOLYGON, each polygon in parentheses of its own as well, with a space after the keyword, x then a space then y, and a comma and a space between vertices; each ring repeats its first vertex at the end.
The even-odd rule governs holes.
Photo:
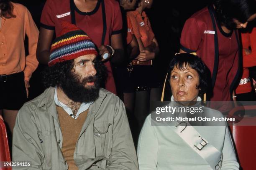
MULTIPOLYGON (((204 122, 197 119, 222 116, 219 111, 201 105, 198 95, 207 90, 205 71, 205 64, 195 55, 174 56, 166 82, 173 95, 166 106, 177 110, 158 113, 157 107, 146 118, 138 141, 140 170, 239 169, 225 122, 204 122), (182 108, 186 108, 186 111, 182 111, 182 108), (169 117, 174 120, 166 121, 169 117), (176 120, 182 117, 191 120, 176 120), (192 118, 198 121, 193 121, 192 118)), ((165 106, 160 108, 162 110, 165 106)))

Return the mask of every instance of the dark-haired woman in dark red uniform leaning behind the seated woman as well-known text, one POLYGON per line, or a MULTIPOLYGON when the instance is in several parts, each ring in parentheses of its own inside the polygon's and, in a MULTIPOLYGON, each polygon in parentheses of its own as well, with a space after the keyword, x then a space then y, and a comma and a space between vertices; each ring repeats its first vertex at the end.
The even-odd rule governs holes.
POLYGON ((242 61, 236 29, 246 28, 255 18, 255 0, 215 0, 186 21, 180 52, 196 52, 209 68, 213 88, 209 100, 235 99, 242 61))

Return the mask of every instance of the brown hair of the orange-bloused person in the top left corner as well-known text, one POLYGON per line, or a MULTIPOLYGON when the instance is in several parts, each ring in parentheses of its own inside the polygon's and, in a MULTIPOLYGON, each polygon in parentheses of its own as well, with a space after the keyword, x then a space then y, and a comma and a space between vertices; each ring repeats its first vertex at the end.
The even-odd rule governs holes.
POLYGON ((0 17, 15 18, 13 15, 13 5, 9 0, 0 0, 0 17))

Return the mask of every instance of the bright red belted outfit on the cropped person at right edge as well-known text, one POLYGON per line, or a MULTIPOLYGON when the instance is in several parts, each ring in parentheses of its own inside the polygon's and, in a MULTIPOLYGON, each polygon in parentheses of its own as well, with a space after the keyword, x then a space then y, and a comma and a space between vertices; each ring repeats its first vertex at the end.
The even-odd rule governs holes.
POLYGON ((246 55, 243 50, 243 75, 236 88, 238 94, 251 92, 252 90, 251 81, 248 81, 249 69, 247 67, 256 66, 256 28, 253 28, 250 33, 242 33, 241 37, 243 48, 249 49, 251 46, 251 54, 246 55))

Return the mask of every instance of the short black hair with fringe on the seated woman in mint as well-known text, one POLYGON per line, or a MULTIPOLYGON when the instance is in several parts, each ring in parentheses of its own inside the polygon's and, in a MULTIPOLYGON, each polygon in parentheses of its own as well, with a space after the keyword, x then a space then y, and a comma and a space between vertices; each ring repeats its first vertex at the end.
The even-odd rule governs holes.
MULTIPOLYGON (((199 57, 189 53, 176 54, 169 64, 168 73, 174 70, 174 67, 177 67, 179 70, 184 70, 188 67, 191 67, 192 69, 196 70, 199 75, 200 82, 197 88, 200 88, 200 94, 207 92, 207 67, 199 57)), ((169 81, 170 74, 168 77, 168 82, 169 81)))

